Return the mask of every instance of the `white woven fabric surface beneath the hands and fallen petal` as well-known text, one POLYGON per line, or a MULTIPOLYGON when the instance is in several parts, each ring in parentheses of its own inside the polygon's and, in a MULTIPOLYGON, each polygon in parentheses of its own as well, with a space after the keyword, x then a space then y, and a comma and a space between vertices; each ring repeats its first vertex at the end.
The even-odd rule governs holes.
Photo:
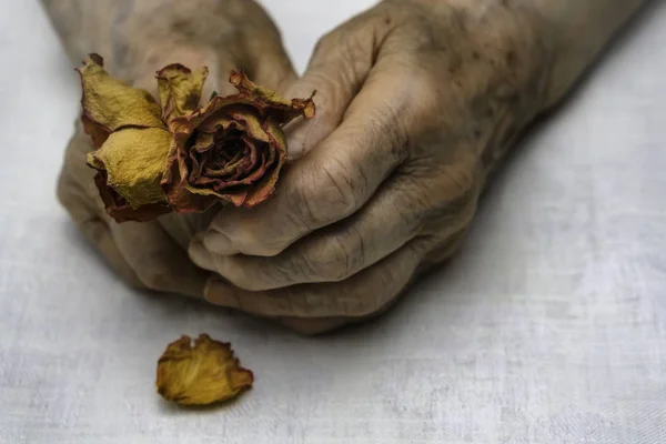
MULTIPOLYGON (((301 69, 370 4, 265 3, 301 69)), ((37 2, 0 4, 0 443, 666 443, 666 2, 523 143, 456 260, 316 340, 119 282, 54 200, 72 67, 37 2), (155 394, 200 332, 255 371, 228 408, 155 394)))

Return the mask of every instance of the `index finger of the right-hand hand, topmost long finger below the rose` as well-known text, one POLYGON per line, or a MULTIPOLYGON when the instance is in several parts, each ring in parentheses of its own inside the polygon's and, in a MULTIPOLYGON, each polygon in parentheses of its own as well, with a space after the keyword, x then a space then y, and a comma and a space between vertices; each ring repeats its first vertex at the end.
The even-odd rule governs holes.
POLYGON ((343 123, 285 171, 273 199, 220 213, 205 235, 211 252, 275 255, 364 205, 408 155, 398 115, 407 112, 410 98, 385 98, 395 80, 380 74, 364 87, 343 123))

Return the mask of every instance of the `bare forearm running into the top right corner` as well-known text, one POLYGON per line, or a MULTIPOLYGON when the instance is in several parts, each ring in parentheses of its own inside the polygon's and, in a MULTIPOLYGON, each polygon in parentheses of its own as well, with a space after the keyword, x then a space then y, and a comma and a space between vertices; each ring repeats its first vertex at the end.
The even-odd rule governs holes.
POLYGON ((546 105, 552 105, 649 0, 521 1, 533 2, 551 30, 553 65, 546 105))

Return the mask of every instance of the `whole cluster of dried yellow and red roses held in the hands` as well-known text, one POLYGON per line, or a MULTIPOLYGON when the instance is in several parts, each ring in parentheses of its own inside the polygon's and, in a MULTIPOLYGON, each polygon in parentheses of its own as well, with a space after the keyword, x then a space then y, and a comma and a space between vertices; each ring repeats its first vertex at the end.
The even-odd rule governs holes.
POLYGON ((286 159, 282 125, 314 115, 312 98, 283 100, 243 72, 231 73, 238 94, 199 109, 205 68, 170 64, 158 71, 161 104, 112 78, 98 54, 78 71, 81 120, 97 148, 88 164, 98 170, 95 184, 118 222, 203 211, 220 200, 262 202, 286 159))

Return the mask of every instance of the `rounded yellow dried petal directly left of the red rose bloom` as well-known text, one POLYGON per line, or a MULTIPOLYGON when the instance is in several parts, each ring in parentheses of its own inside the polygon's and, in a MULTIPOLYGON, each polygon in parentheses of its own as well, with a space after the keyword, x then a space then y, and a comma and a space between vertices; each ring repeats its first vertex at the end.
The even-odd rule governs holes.
POLYGON ((88 164, 107 171, 107 181, 138 209, 167 200, 160 181, 167 169, 171 134, 159 128, 125 128, 109 135, 88 164))

